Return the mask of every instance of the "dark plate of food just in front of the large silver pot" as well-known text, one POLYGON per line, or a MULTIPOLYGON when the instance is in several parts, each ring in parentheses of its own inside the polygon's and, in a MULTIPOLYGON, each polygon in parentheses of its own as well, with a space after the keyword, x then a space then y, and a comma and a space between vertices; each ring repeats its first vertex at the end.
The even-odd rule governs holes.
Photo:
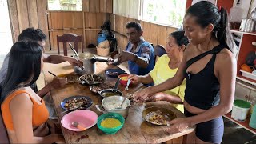
POLYGON ((104 83, 106 81, 106 77, 102 76, 101 74, 84 74, 79 77, 79 80, 82 82, 82 84, 97 85, 104 83))

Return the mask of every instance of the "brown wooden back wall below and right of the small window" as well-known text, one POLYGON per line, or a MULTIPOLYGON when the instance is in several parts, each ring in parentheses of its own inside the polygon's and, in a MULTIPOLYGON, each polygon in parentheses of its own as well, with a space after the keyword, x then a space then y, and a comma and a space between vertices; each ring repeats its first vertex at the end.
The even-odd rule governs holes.
MULTIPOLYGON (((112 0, 82 0, 82 11, 49 11, 51 50, 57 50, 57 35, 85 35, 85 46, 97 45, 98 32, 112 13, 112 0), (84 31, 83 31, 84 30, 84 31)), ((62 51, 62 44, 60 45, 62 51)))

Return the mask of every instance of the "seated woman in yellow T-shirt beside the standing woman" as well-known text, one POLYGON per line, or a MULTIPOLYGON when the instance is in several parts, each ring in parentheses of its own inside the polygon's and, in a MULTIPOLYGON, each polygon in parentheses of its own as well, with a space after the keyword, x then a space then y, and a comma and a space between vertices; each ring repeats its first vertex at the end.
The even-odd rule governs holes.
MULTIPOLYGON (((189 41, 184 36, 184 31, 171 33, 166 43, 167 54, 158 58, 154 69, 149 74, 143 76, 130 74, 129 78, 131 78, 131 82, 142 82, 144 84, 154 82, 155 85, 158 85, 165 82, 168 78, 174 77, 178 66, 182 62, 183 52, 188 43, 189 41)), ((186 81, 183 81, 181 86, 166 90, 163 93, 154 94, 146 102, 167 101, 172 103, 178 110, 184 112, 182 103, 185 95, 185 87, 186 81)))

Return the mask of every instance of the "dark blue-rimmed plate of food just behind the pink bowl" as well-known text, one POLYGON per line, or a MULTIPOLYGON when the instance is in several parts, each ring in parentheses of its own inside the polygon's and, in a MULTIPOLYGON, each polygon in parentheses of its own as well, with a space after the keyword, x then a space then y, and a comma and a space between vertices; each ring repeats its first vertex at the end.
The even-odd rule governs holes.
POLYGON ((79 106, 77 109, 74 109, 74 110, 86 110, 92 104, 93 104, 93 101, 89 97, 76 95, 69 98, 65 98, 61 102, 61 107, 64 110, 70 110, 79 106))

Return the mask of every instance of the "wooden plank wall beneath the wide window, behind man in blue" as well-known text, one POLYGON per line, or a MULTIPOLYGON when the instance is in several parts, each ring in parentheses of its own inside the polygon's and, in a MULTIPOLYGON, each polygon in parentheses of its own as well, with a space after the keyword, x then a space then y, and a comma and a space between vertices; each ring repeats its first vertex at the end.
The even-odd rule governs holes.
POLYGON ((138 21, 134 18, 126 18, 116 14, 110 14, 111 29, 115 31, 119 50, 125 50, 128 39, 126 38, 126 23, 136 21, 142 25, 143 38, 154 45, 166 46, 166 38, 177 30, 170 26, 161 26, 150 22, 138 21))

